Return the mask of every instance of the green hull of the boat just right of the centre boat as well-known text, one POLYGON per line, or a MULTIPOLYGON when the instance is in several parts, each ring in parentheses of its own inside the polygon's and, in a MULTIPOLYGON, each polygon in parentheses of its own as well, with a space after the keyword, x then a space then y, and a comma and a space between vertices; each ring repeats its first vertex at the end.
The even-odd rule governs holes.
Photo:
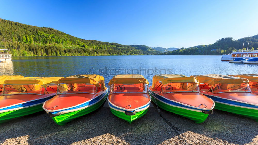
POLYGON ((157 104, 158 107, 160 107, 160 108, 162 108, 166 111, 169 111, 169 112, 178 114, 180 116, 186 117, 190 120, 193 120, 195 123, 202 123, 208 117, 208 114, 205 114, 205 113, 202 113, 202 112, 186 110, 186 109, 182 109, 182 108, 178 108, 178 107, 173 107, 173 106, 167 105, 167 104, 155 99, 151 94, 150 94, 150 96, 151 96, 152 101, 155 104, 157 104))

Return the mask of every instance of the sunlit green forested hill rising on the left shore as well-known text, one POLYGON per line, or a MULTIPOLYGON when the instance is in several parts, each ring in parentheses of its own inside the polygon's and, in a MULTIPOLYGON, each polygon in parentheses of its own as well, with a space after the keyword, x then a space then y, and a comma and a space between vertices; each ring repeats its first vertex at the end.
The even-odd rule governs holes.
POLYGON ((143 50, 117 43, 84 40, 52 28, 30 26, 1 18, 0 48, 10 49, 13 56, 153 55, 159 53, 155 50, 143 50))

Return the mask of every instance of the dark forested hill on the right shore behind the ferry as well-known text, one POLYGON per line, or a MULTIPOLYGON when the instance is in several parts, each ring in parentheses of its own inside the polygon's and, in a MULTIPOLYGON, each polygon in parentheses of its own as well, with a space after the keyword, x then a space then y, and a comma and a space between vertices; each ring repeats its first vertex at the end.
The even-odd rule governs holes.
POLYGON ((191 48, 181 48, 174 51, 164 52, 162 55, 222 55, 229 54, 233 50, 242 50, 244 44, 244 50, 258 49, 258 35, 252 37, 245 37, 238 40, 233 40, 232 37, 221 38, 214 44, 199 45, 191 48))

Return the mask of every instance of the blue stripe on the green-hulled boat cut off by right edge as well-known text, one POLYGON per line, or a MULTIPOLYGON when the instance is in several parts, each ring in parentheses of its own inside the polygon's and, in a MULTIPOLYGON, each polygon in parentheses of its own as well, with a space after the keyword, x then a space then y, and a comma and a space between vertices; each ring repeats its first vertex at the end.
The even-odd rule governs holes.
POLYGON ((251 104, 246 104, 246 103, 241 103, 241 102, 237 102, 237 101, 227 100, 227 99, 218 98, 218 97, 214 97, 214 96, 210 96, 210 95, 206 95, 206 94, 203 94, 203 95, 211 98, 215 102, 222 102, 222 103, 226 103, 226 104, 232 104, 232 105, 244 106, 244 107, 250 107, 250 108, 258 108, 258 106, 251 105, 251 104))

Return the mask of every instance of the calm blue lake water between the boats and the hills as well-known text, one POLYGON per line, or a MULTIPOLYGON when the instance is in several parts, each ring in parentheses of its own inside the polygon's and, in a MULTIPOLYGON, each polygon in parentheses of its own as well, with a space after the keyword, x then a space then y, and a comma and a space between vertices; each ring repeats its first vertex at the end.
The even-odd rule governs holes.
POLYGON ((155 74, 258 74, 258 65, 221 61, 221 56, 76 56, 13 57, 0 63, 0 75, 25 77, 68 77, 75 74, 99 74, 106 84, 115 74, 142 74, 150 84, 155 74), (155 70, 156 68, 156 70, 155 70), (118 72, 119 71, 119 72, 118 72))

